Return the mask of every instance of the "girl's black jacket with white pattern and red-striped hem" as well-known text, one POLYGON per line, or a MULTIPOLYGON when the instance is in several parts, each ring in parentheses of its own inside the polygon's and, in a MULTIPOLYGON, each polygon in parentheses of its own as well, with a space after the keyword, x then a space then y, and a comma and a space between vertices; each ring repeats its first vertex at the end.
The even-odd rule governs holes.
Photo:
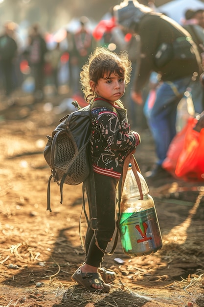
POLYGON ((124 159, 140 143, 140 136, 130 130, 123 106, 113 106, 110 102, 96 98, 91 106, 91 117, 93 171, 119 179, 124 159), (95 106, 95 102, 104 106, 95 106))

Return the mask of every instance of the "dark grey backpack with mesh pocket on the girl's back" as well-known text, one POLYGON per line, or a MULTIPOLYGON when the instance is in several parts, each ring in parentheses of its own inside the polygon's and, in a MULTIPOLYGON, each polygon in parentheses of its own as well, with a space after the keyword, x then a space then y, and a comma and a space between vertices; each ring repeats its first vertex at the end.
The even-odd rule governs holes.
POLYGON ((63 184, 77 185, 90 173, 88 144, 91 136, 91 106, 79 109, 60 120, 60 124, 47 135, 44 157, 51 168, 47 186, 47 210, 50 208, 50 181, 53 178, 60 186, 61 204, 63 184))

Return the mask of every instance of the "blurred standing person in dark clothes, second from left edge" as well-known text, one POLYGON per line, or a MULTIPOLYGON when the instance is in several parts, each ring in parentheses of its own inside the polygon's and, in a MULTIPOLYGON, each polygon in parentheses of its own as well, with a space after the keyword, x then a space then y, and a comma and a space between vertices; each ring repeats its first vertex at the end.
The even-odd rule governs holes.
POLYGON ((40 33, 38 24, 35 24, 31 28, 29 36, 28 48, 28 63, 31 69, 31 74, 34 77, 35 89, 34 99, 35 102, 42 101, 44 99, 44 78, 45 78, 45 54, 47 47, 43 35, 40 33))

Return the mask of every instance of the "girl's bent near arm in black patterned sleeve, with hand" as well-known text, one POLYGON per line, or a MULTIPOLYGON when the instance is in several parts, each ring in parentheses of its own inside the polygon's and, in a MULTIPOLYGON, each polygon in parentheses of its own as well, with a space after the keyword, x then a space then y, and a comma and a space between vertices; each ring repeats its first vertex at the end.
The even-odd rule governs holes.
POLYGON ((123 131, 114 112, 103 111, 99 113, 97 125, 111 150, 134 150, 140 142, 139 134, 135 131, 130 131, 128 124, 123 131))

